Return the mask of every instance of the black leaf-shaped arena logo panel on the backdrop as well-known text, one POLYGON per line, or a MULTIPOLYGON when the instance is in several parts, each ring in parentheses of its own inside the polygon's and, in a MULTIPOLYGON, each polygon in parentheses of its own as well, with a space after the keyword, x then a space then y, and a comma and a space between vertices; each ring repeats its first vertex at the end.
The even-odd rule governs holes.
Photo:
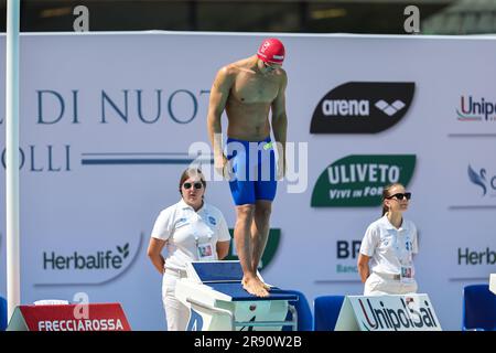
POLYGON ((311 133, 376 133, 407 114, 416 84, 349 82, 333 88, 316 106, 311 133))

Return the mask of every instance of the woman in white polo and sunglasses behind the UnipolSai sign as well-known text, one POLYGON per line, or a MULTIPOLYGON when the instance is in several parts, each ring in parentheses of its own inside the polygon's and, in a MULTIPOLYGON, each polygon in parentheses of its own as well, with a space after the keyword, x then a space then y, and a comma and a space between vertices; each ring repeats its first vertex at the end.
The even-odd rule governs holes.
POLYGON ((411 193, 399 183, 382 191, 382 217, 368 226, 358 255, 364 296, 417 292, 413 267, 417 227, 403 218, 410 197, 411 193))

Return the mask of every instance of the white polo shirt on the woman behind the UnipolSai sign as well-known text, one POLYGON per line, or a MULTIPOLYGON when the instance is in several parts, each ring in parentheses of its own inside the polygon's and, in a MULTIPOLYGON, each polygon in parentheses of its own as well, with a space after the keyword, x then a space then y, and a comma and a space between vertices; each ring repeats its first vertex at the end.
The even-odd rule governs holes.
POLYGON ((386 215, 370 224, 362 240, 360 254, 370 257, 370 271, 398 275, 401 263, 412 267, 412 255, 419 252, 417 227, 413 222, 405 220, 396 228, 386 215))

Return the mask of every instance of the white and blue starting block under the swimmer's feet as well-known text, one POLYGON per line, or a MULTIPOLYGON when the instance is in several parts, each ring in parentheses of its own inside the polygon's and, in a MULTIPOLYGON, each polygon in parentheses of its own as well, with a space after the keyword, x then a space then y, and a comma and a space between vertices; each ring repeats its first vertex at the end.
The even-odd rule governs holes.
POLYGON ((175 296, 190 308, 188 331, 280 331, 285 325, 298 330, 296 310, 289 304, 298 296, 277 287, 265 298, 248 293, 239 261, 193 261, 186 274, 177 280, 175 296))

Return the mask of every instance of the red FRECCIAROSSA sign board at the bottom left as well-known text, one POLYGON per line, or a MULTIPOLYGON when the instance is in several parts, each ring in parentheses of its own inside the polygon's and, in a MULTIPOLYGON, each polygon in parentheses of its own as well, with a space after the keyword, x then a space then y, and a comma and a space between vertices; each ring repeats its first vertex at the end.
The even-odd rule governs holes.
POLYGON ((9 331, 130 331, 119 303, 20 306, 9 331))

